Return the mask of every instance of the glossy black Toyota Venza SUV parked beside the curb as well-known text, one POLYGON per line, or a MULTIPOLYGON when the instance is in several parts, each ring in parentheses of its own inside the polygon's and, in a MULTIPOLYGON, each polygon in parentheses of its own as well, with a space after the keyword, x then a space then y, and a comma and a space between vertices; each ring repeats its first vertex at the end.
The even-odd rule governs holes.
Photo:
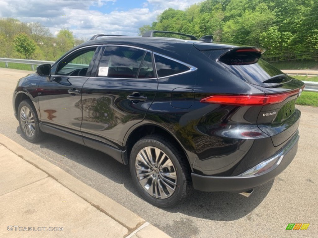
POLYGON ((20 79, 25 139, 54 134, 114 157, 160 207, 191 188, 248 196, 280 174, 297 152, 304 84, 258 48, 153 33, 95 35, 20 79))

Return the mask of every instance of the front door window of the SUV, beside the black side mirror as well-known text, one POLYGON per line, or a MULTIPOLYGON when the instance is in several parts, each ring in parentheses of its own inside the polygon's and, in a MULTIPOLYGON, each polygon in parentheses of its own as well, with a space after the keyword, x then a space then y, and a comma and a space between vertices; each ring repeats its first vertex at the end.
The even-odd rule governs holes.
POLYGON ((58 66, 56 75, 86 76, 89 64, 95 54, 96 48, 79 50, 67 56, 58 66))

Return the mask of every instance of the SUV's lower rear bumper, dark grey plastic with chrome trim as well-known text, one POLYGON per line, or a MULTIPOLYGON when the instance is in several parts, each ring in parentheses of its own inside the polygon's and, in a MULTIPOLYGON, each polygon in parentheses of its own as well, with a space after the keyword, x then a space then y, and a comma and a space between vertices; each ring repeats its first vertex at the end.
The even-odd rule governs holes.
POLYGON ((273 180, 294 159, 298 149, 298 133, 277 154, 249 169, 248 171, 230 177, 202 176, 192 173, 194 189, 217 192, 245 192, 273 180), (255 173, 255 174, 253 174, 255 173))

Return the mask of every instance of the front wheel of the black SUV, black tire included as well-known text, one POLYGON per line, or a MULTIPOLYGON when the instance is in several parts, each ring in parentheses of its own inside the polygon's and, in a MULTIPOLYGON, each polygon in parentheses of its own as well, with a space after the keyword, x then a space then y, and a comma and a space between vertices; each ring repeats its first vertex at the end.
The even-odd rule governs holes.
POLYGON ((33 103, 30 100, 26 99, 20 102, 18 111, 17 111, 17 117, 18 117, 20 129, 22 132, 22 136, 24 137, 25 140, 27 140, 28 142, 35 143, 43 139, 44 133, 39 128, 38 115, 33 106, 33 103), (22 114, 21 114, 21 110, 22 110, 22 114), (24 118, 21 118, 22 117, 21 115, 26 115, 26 117, 23 116, 24 118))

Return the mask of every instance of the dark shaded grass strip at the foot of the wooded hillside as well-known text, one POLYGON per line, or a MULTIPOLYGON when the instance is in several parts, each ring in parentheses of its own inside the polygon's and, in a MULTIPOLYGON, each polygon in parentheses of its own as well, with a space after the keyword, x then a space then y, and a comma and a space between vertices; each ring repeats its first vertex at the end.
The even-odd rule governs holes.
POLYGON ((270 62, 277 69, 291 69, 291 70, 318 70, 318 61, 313 60, 290 60, 270 62))

